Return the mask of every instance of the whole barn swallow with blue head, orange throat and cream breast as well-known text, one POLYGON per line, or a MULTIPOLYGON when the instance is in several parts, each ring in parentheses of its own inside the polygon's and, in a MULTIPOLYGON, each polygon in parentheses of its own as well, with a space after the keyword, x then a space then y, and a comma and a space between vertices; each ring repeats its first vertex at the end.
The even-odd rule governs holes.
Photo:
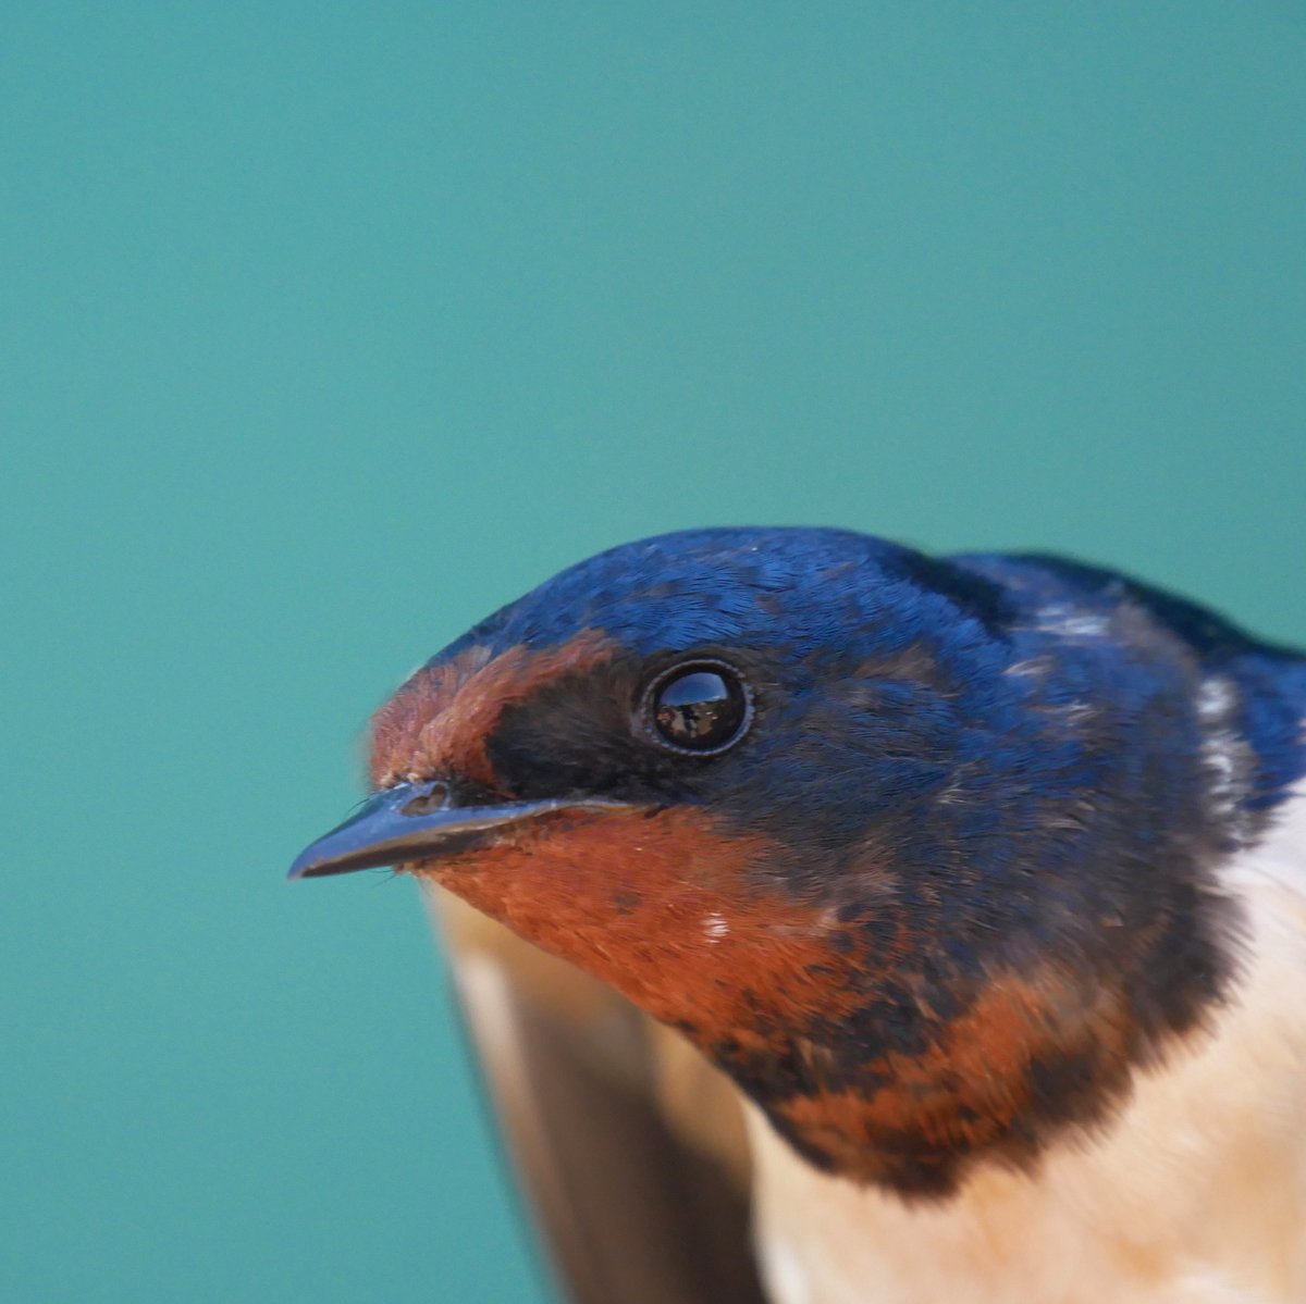
POLYGON ((371 777, 291 873, 443 899, 576 1299, 1306 1300, 1306 654, 691 531, 453 642, 371 777))

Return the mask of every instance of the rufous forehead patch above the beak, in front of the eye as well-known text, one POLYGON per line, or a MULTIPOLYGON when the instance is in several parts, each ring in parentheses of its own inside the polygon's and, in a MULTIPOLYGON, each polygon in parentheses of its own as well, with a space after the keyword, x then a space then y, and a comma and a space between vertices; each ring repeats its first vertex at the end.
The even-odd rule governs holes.
POLYGON ((610 660, 618 650, 602 630, 584 629, 555 647, 518 644, 494 654, 477 644, 438 666, 423 666, 372 717, 372 782, 385 787, 460 774, 496 787, 486 739, 503 713, 552 680, 610 660))

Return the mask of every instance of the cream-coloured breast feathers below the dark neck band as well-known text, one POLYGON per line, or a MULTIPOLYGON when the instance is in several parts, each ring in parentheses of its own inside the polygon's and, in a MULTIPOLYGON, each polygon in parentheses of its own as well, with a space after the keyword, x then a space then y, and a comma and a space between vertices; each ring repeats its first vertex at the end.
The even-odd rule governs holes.
POLYGON ((1249 919, 1235 1000, 1033 1173, 904 1205, 816 1172, 750 1110, 776 1304, 1303 1304, 1306 792, 1222 878, 1249 919))

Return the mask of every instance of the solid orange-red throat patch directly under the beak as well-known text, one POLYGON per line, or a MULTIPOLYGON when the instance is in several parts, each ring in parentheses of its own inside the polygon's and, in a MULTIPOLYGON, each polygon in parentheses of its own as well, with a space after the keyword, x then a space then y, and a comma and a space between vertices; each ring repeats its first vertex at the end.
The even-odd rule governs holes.
POLYGON ((793 1060, 793 1029, 858 1000, 855 957, 835 944, 845 924, 780 889, 741 890, 765 850, 670 809, 560 820, 419 873, 738 1070, 793 1060))

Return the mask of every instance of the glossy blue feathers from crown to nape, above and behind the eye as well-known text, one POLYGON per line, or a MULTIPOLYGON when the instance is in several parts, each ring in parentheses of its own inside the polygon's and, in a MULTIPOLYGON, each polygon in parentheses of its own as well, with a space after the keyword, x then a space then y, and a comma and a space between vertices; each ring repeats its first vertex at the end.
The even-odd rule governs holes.
MULTIPOLYGON (((781 794, 801 794, 804 821, 823 811, 832 837, 859 808, 936 796, 959 774, 1003 803, 1008 824, 1015 794, 1071 800, 1109 771, 1161 784, 1164 805, 1171 781, 1195 782, 1190 762, 1216 735, 1247 752, 1245 813, 1273 807, 1306 773, 1301 655, 1055 559, 940 561, 841 530, 684 531, 562 572, 438 660, 469 644, 562 645, 586 628, 635 658, 710 649, 757 660, 782 689, 789 727, 759 731, 739 799, 750 790, 782 820, 794 801, 781 794), (1204 718, 1221 692, 1222 714, 1204 718)), ((973 812, 977 831, 994 820, 973 812)))

